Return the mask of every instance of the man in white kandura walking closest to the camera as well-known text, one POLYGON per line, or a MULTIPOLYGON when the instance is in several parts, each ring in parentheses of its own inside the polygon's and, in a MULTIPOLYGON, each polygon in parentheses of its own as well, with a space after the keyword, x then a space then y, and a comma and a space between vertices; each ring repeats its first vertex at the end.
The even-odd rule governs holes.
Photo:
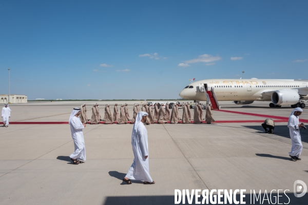
POLYGON ((131 146, 134 159, 123 179, 128 185, 131 185, 130 179, 144 180, 143 183, 145 185, 153 185, 155 183, 149 173, 148 138, 147 130, 143 125, 146 122, 147 115, 146 112, 139 112, 132 128, 131 146))

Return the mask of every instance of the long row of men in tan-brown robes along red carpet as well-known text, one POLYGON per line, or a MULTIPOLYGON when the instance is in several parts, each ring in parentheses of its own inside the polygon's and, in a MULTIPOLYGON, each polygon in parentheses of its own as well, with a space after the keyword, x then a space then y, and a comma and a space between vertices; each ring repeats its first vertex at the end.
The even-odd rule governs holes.
MULTIPOLYGON (((81 105, 81 115, 80 120, 82 123, 87 124, 87 122, 90 120, 91 124, 99 124, 100 121, 105 121, 105 124, 113 124, 113 121, 118 121, 118 124, 127 124, 128 121, 135 122, 137 114, 140 112, 139 104, 134 104, 133 106, 133 115, 130 119, 130 115, 128 112, 127 104, 122 104, 120 108, 120 114, 118 110, 118 104, 114 105, 113 108, 113 115, 110 111, 110 105, 106 104, 105 106, 105 115, 104 118, 101 119, 100 115, 100 109, 98 104, 94 104, 92 107, 92 117, 91 119, 88 119, 87 117, 87 109, 86 104, 81 105)), ((161 104, 159 106, 158 103, 154 104, 154 114, 152 111, 152 104, 143 104, 142 105, 142 112, 146 112, 148 114, 147 120, 145 121, 146 125, 154 124, 155 121, 157 121, 158 124, 164 124, 167 121, 170 121, 171 124, 178 124, 179 120, 181 120, 179 115, 179 104, 176 103, 172 107, 172 110, 170 112, 169 110, 169 104, 161 104)), ((182 115, 182 124, 188 124, 191 123, 191 114, 190 114, 190 105, 189 103, 186 103, 182 105, 183 107, 183 115, 182 115)), ((210 104, 206 106, 205 108, 206 114, 205 114, 205 121, 207 124, 210 124, 211 122, 215 122, 212 113, 211 113, 211 107, 210 104)), ((203 110, 201 107, 201 103, 197 103, 194 108, 194 124, 201 124, 203 121, 203 110)))

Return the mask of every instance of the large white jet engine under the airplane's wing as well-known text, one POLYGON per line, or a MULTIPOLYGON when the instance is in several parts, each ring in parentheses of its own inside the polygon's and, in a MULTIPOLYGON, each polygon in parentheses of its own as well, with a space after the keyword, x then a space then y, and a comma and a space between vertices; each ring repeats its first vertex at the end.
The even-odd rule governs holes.
POLYGON ((277 90, 272 93, 272 102, 277 106, 297 104, 299 98, 299 94, 293 90, 277 90))

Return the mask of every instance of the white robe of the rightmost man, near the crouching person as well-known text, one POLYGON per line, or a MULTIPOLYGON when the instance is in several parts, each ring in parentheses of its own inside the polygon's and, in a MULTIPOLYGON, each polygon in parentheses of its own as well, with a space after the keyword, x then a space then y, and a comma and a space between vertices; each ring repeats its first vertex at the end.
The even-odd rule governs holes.
POLYGON ((292 140, 292 148, 289 154, 291 156, 296 156, 296 157, 299 157, 303 150, 298 124, 299 124, 298 116, 292 114, 287 122, 287 127, 290 130, 290 137, 292 140))

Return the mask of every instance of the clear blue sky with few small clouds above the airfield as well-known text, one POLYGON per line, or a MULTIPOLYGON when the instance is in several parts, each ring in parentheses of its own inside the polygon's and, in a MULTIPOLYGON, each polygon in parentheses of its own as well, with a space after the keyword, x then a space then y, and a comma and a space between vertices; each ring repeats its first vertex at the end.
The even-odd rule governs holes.
POLYGON ((307 1, 0 1, 0 94, 179 98, 188 78, 307 78, 307 1))

